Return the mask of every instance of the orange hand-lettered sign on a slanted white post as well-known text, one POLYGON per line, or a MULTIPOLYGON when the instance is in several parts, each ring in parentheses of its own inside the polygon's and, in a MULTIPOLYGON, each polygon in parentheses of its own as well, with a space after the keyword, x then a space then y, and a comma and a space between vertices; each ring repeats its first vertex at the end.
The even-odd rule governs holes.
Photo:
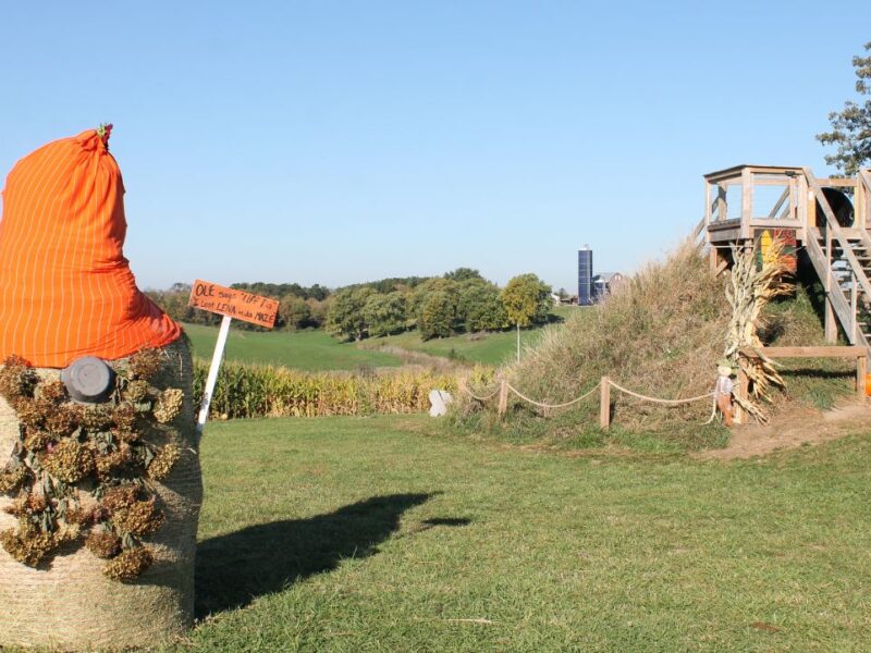
POLYGON ((224 357, 226 336, 230 333, 230 322, 233 318, 259 324, 267 329, 272 329, 275 324, 275 315, 279 310, 277 299, 252 295, 243 291, 228 288, 217 283, 196 280, 191 288, 191 300, 188 306, 200 308, 223 316, 221 330, 218 332, 218 342, 214 343, 214 354, 209 366, 209 375, 206 378, 206 387, 203 392, 203 401, 199 404, 199 417, 197 417, 197 433, 203 434, 203 428, 209 418, 209 406, 214 393, 214 383, 218 381, 218 371, 221 369, 221 360, 224 357))

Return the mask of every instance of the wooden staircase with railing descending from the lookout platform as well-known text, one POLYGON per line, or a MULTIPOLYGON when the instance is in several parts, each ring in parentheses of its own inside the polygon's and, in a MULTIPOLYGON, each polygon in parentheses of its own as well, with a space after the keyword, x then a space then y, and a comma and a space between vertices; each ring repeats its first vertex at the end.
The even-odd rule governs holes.
MULTIPOLYGON (((822 215, 818 214, 821 226, 806 227, 810 261, 847 340, 871 354, 871 237, 864 229, 841 227, 817 177, 807 168, 803 174, 810 198, 822 208, 822 215)), ((863 170, 859 178, 871 190, 871 174, 863 170)), ((826 323, 832 336, 834 324, 826 323)))

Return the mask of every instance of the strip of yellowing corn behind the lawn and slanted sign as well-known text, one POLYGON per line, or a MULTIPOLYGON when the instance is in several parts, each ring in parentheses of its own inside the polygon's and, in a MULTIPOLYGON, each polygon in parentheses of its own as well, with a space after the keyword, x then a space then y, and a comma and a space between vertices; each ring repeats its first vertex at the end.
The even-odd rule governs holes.
MULTIPOLYGON (((209 364, 195 360, 194 396, 203 396, 209 364)), ((383 374, 300 372, 283 367, 226 362, 221 366, 211 419, 321 417, 424 412, 431 390, 454 392, 452 374, 398 371, 383 374)))

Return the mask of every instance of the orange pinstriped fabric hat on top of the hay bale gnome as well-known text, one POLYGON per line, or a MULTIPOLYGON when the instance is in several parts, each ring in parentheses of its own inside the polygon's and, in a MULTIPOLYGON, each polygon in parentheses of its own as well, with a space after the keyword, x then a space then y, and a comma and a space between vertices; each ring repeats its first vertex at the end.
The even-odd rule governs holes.
POLYGON ((123 358, 181 328, 136 287, 122 248, 121 171, 96 131, 19 161, 0 222, 0 357, 61 368, 123 358))

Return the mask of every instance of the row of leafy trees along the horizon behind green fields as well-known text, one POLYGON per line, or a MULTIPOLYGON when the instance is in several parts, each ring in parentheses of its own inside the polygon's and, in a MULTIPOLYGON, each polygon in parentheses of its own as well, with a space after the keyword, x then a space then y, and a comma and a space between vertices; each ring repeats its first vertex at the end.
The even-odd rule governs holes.
MULTIPOLYGON (((417 330, 422 340, 455 333, 500 331, 548 321, 551 287, 535 274, 520 274, 504 288, 471 268, 442 276, 393 278, 330 291, 315 284, 235 283, 231 287, 279 300, 275 329, 326 329, 340 340, 359 341, 417 330)), ((188 284, 148 291, 171 318, 217 324, 221 317, 187 306, 188 284)), ((242 329, 261 328, 240 322, 242 329)))

